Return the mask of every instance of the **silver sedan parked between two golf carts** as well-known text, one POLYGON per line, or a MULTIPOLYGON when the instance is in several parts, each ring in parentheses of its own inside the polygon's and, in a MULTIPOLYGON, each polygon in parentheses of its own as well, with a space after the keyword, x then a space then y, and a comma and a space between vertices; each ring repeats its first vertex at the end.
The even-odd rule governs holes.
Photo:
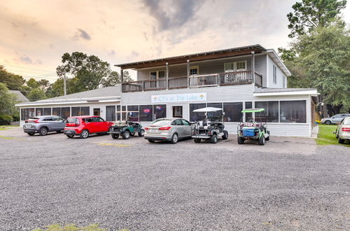
POLYGON ((190 122, 181 118, 161 118, 154 120, 151 125, 145 127, 145 139, 150 143, 154 141, 170 141, 176 144, 179 139, 192 136, 190 122))

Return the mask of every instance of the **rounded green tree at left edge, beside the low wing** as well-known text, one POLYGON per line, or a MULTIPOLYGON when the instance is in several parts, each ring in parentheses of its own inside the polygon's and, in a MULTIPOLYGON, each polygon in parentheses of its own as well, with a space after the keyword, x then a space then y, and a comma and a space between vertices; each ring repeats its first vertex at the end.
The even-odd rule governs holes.
POLYGON ((15 108, 16 97, 8 92, 4 83, 0 83, 0 125, 10 123, 13 116, 18 114, 15 108))

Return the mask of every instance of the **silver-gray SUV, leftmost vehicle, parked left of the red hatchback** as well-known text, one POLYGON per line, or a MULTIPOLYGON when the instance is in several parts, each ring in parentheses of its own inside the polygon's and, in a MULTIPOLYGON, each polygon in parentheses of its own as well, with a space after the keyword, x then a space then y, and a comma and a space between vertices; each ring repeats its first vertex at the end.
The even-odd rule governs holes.
POLYGON ((66 120, 59 116, 36 116, 25 120, 23 130, 33 136, 38 133, 45 136, 48 132, 61 132, 66 126, 66 120))

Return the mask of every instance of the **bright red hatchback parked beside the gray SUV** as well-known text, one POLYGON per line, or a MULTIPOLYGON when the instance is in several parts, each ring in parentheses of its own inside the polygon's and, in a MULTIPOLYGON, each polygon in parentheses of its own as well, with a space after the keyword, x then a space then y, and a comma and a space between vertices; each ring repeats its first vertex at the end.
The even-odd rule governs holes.
POLYGON ((86 139, 92 133, 107 134, 111 125, 113 123, 104 121, 99 116, 73 116, 67 118, 64 134, 69 138, 80 136, 86 139))

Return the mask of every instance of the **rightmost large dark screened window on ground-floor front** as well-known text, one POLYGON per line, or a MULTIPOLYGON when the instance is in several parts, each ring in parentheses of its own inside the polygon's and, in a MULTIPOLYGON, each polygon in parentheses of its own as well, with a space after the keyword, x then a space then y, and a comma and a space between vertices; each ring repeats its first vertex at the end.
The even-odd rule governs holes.
POLYGON ((281 101, 281 123, 306 123, 306 100, 281 101))

